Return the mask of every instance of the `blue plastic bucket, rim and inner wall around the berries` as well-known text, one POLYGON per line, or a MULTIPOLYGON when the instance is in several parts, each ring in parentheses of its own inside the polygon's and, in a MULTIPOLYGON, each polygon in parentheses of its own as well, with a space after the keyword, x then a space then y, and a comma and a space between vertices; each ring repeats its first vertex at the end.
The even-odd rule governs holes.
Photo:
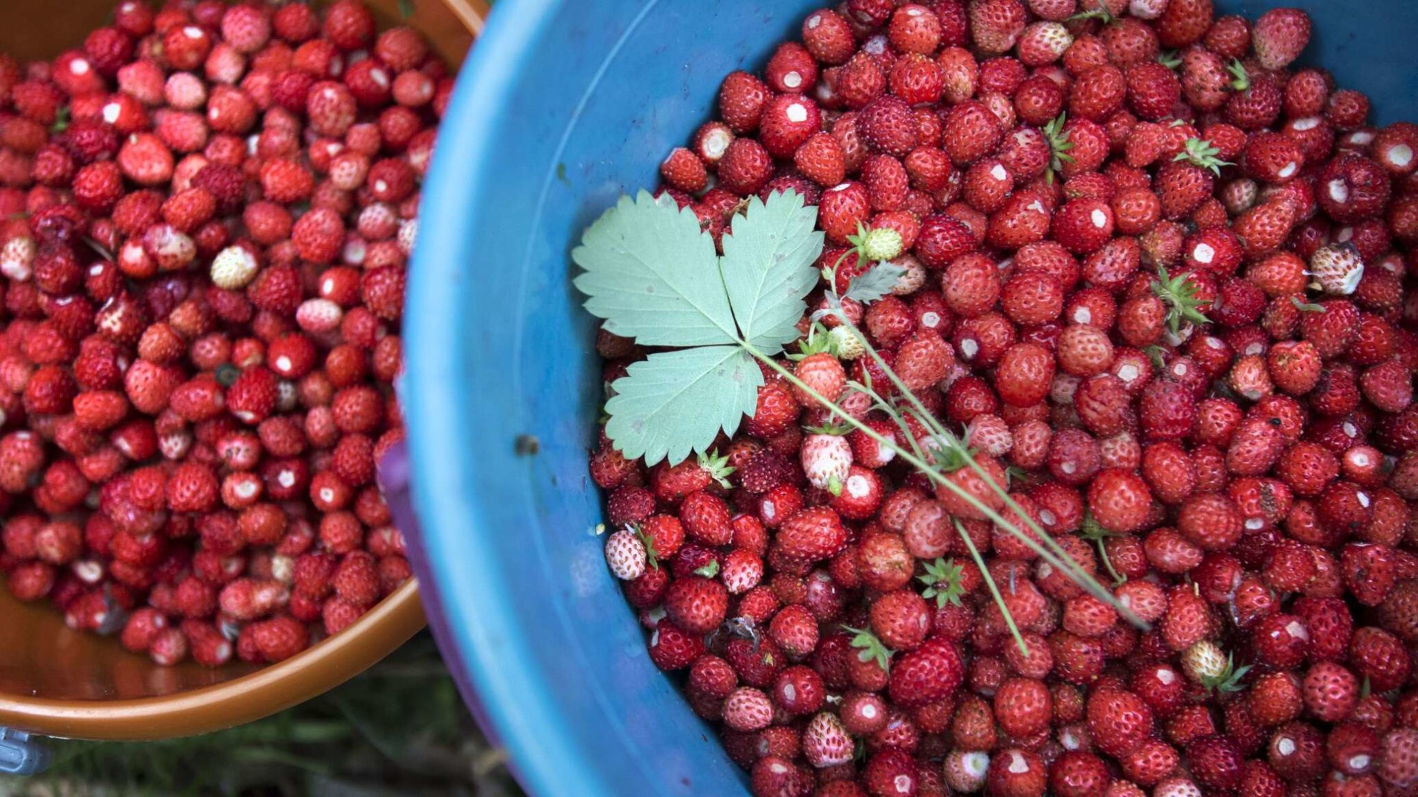
MULTIPOLYGON (((1418 4, 1306 6, 1310 60, 1418 119, 1418 4)), ((645 655, 587 471, 600 367, 569 251, 709 116, 811 0, 501 0, 445 118, 408 292, 423 594, 464 695, 540 796, 742 796, 645 655)))

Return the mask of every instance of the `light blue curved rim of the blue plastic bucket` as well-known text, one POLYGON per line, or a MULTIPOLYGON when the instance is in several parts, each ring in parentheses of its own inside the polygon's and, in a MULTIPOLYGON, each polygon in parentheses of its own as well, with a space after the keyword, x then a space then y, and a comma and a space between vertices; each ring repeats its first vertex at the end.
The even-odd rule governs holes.
MULTIPOLYGON (((424 221, 406 299, 406 306, 418 312, 404 318, 406 350, 417 352, 410 362, 417 360, 418 367, 406 369, 400 393, 406 414, 421 421, 407 427, 417 474, 413 486, 417 515, 462 518, 467 526, 465 533, 457 535, 457 545, 452 535, 444 533, 420 540, 432 576, 421 589, 435 593, 437 600, 430 603, 445 613, 430 620, 440 627, 444 641, 457 647, 455 659, 464 665, 458 675, 467 678, 474 692, 465 698, 479 703, 475 710, 491 723, 486 730, 506 749, 530 793, 563 793, 567 779, 580 773, 574 786, 579 794, 613 797, 603 783, 586 780, 596 771, 596 763, 586 760, 564 726, 560 708, 537 685, 537 675, 508 667, 508 659, 526 654, 530 644, 499 589, 503 577, 492 566, 496 556, 485 542, 491 523, 479 502, 461 492, 469 481, 467 462, 476 457, 476 450, 465 448, 467 441, 481 435, 464 396, 447 389, 448 377, 461 370, 459 359, 465 356, 451 342, 465 339, 462 330, 474 322, 461 305, 462 294, 448 289, 465 278, 464 258, 474 238, 472 227, 465 223, 467 208, 495 199, 486 196, 491 186, 484 179, 496 157, 495 126, 479 121, 493 121, 509 106, 520 77, 516 64, 556 18, 556 6, 557 0, 499 3, 459 72, 420 208, 424 221), (459 201, 437 201, 452 196, 461 197, 459 201), (478 611, 464 611, 469 606, 478 611), (515 695, 516 701, 478 701, 478 695, 515 695)), ((527 659, 530 654, 522 658, 527 659)))

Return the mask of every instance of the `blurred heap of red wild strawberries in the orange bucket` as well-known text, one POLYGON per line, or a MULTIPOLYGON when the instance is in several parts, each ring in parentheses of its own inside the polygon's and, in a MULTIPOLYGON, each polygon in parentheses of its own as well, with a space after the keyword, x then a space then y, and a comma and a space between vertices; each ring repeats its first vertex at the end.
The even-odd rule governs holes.
POLYGON ((354 0, 123 0, 0 57, 0 572, 159 664, 285 659, 410 577, 374 481, 451 91, 354 0))

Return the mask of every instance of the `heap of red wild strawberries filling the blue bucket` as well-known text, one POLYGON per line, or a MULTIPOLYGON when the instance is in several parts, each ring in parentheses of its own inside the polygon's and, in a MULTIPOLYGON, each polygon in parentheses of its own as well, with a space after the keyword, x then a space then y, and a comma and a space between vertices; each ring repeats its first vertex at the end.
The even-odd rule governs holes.
MULTIPOLYGON (((611 570, 756 797, 1418 794, 1418 126, 1292 67, 1310 33, 845 0, 664 162, 716 238, 805 194, 839 279, 898 231, 892 295, 845 312, 1143 621, 767 369, 722 458, 603 435, 611 570)), ((642 356, 597 349, 607 384, 642 356)), ((861 346, 788 367, 908 442, 845 387, 893 389, 861 346)))

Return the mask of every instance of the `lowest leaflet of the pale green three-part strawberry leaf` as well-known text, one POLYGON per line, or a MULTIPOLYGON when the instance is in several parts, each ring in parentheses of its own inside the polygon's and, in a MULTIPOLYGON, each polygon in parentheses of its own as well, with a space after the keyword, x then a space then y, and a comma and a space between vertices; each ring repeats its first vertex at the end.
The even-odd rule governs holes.
POLYGON ((719 430, 732 435, 753 413, 761 386, 763 372, 737 346, 659 352, 611 386, 605 434, 631 459, 679 462, 708 451, 719 430))

